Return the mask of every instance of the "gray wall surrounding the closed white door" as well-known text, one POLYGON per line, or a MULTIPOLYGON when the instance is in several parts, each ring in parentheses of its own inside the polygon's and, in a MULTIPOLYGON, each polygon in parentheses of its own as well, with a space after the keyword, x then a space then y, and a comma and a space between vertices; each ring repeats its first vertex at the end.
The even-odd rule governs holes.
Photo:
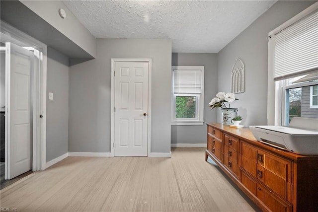
POLYGON ((151 58, 151 152, 170 152, 171 41, 97 39, 96 50, 70 67, 69 151, 110 152, 111 59, 151 58))

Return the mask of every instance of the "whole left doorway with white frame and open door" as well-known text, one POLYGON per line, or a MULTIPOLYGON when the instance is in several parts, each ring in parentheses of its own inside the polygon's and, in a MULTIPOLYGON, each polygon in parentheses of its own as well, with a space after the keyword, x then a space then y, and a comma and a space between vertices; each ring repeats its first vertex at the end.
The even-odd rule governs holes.
POLYGON ((2 189, 45 169, 47 47, 3 21, 0 33, 2 189))

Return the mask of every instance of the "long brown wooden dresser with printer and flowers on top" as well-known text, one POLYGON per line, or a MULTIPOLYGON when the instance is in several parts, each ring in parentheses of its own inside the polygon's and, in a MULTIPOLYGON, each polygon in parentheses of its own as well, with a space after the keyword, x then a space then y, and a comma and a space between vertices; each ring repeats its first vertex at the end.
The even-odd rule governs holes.
POLYGON ((248 128, 207 124, 210 156, 263 211, 318 212, 318 155, 257 141, 248 128))

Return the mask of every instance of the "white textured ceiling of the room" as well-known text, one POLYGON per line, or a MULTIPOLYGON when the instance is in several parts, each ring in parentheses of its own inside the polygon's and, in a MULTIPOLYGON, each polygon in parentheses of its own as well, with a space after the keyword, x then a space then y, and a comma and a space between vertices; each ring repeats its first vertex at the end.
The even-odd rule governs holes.
POLYGON ((96 38, 171 39, 177 53, 218 53, 275 2, 64 1, 96 38))

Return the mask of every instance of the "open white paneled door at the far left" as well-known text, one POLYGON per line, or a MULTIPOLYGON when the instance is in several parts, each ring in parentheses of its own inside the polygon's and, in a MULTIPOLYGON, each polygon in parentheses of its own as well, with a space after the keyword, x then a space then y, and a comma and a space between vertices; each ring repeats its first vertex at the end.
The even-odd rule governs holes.
POLYGON ((33 52, 12 43, 5 47, 5 179, 12 179, 32 169, 33 52))

